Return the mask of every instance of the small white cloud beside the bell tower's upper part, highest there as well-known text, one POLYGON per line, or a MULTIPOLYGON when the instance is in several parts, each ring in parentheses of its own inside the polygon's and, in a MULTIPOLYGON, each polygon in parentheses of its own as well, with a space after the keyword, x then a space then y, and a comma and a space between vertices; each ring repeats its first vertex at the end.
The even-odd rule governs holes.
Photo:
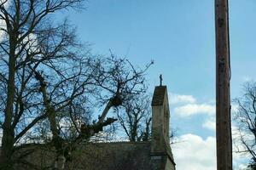
POLYGON ((195 103, 196 99, 192 95, 169 94, 170 104, 195 103))

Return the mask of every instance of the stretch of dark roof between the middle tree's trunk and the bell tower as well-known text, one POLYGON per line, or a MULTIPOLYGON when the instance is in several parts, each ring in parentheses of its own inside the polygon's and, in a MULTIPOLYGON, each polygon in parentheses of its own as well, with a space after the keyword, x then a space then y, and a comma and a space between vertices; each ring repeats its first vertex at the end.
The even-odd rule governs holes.
POLYGON ((74 169, 150 169, 150 142, 87 144, 82 152, 83 157, 80 160, 76 160, 74 169), (79 165, 79 168, 77 165, 79 165))

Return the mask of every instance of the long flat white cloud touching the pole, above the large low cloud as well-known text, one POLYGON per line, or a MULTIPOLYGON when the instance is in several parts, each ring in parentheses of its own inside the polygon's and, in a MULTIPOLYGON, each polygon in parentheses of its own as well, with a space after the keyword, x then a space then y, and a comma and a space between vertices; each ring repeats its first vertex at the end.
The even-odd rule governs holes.
POLYGON ((176 107, 174 113, 178 116, 192 116, 197 114, 213 115, 215 113, 215 105, 188 104, 176 107))

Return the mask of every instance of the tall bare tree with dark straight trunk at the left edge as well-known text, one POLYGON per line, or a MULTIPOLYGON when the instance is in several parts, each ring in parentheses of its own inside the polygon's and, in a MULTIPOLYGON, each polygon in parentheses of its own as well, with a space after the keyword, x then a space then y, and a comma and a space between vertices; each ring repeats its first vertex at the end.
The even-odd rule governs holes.
POLYGON ((62 37, 53 47, 43 48, 44 46, 38 45, 46 42, 44 38, 50 38, 45 35, 55 31, 55 27, 49 26, 50 14, 65 8, 81 7, 83 2, 83 0, 3 0, 0 2, 2 36, 0 77, 3 94, 1 98, 2 169, 12 169, 15 143, 34 124, 46 118, 45 115, 35 116, 37 113, 30 112, 32 108, 39 106, 29 102, 37 99, 37 95, 35 95, 35 88, 28 89, 28 84, 32 84, 32 72, 28 71, 27 65, 34 64, 32 66, 36 69, 39 64, 44 64, 45 60, 56 57, 54 52, 61 51, 61 54, 65 54, 63 47, 73 45, 71 39, 65 37, 66 32, 61 32, 62 37), (26 122, 25 113, 34 116, 31 122, 26 122), (26 126, 19 127, 20 122, 26 122, 26 126))

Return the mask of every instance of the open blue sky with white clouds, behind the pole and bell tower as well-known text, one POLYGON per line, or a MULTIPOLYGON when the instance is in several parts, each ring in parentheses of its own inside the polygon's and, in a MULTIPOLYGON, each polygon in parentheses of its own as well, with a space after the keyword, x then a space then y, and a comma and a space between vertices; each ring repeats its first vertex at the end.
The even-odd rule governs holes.
MULTIPOLYGON (((255 11, 255 0, 230 0, 231 99, 243 82, 256 80, 255 11)), ((86 10, 61 17, 77 26, 94 54, 111 49, 140 67, 154 59, 148 90, 162 74, 179 141, 172 145, 177 170, 216 169, 213 0, 89 0, 86 10)), ((234 153, 236 170, 245 167, 241 157, 234 153)))

